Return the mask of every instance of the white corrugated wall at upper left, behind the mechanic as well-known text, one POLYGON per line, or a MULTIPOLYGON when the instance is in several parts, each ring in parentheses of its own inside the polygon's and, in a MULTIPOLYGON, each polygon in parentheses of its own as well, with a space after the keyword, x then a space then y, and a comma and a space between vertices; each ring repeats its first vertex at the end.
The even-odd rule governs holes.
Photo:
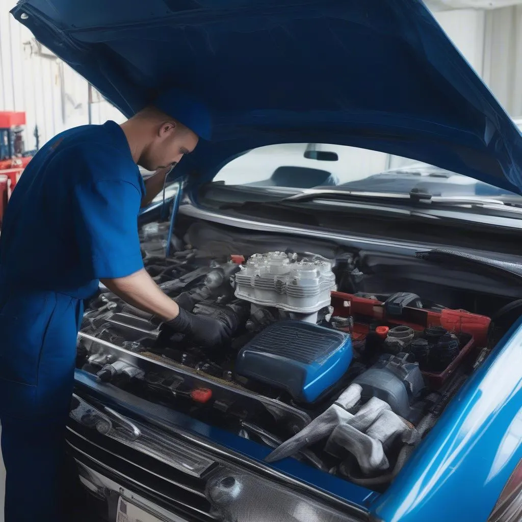
MULTIPOLYGON (((88 85, 70 67, 35 42, 9 14, 13 0, 0 0, 0 111, 25 111, 26 149, 55 134, 89 122, 88 85)), ((93 92, 92 123, 121 122, 123 115, 93 92)))

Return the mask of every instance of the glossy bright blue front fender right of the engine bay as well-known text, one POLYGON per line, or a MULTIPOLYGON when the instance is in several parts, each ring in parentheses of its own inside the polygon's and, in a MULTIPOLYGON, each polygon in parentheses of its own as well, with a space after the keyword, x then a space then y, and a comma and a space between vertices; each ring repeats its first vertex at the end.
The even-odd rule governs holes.
POLYGON ((372 506, 386 522, 487 520, 522 458, 522 319, 372 506))

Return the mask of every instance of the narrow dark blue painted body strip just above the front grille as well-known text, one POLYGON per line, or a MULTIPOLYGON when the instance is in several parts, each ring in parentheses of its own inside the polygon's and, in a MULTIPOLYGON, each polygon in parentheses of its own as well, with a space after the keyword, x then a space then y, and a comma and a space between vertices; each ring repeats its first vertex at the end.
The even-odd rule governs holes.
MULTIPOLYGON (((204 440, 217 444, 222 448, 228 448, 233 452, 245 455, 250 459, 262 462, 268 466, 263 459, 271 452, 271 449, 254 441, 247 440, 222 430, 215 428, 205 422, 188 417, 184 413, 174 411, 170 408, 152 404, 144 399, 133 396, 116 388, 111 384, 104 384, 97 381, 96 376, 87 372, 75 371, 75 386, 77 390, 85 390, 89 395, 103 401, 103 404, 122 408, 131 412, 134 416, 157 421, 162 424, 171 425, 182 431, 188 431, 204 440)), ((378 496, 377 493, 361 488, 358 485, 350 484, 345 480, 334 477, 317 469, 299 462, 298 460, 287 458, 276 462, 269 467, 287 474, 289 477, 296 478, 311 486, 328 492, 339 499, 348 501, 354 506, 367 509, 372 501, 378 496)))

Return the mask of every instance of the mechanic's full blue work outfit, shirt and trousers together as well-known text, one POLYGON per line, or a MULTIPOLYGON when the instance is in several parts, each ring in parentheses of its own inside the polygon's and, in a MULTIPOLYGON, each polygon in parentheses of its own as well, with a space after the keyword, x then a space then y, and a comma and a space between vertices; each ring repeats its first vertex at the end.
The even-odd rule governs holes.
POLYGON ((82 300, 143 268, 144 193, 114 122, 53 138, 13 191, 0 234, 0 520, 60 519, 82 300))

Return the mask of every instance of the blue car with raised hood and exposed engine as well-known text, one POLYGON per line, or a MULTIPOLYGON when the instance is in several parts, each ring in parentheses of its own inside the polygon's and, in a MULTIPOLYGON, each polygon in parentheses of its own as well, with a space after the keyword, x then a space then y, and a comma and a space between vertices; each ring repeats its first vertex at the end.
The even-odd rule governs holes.
POLYGON ((163 291, 233 336, 203 350, 103 287, 86 303, 67 443, 102 519, 520 520, 522 136, 420 0, 13 16, 127 116, 165 86, 213 113, 138 227, 163 291), (323 145, 314 172, 213 181, 295 144, 323 145), (333 146, 499 191, 343 187, 333 146))

